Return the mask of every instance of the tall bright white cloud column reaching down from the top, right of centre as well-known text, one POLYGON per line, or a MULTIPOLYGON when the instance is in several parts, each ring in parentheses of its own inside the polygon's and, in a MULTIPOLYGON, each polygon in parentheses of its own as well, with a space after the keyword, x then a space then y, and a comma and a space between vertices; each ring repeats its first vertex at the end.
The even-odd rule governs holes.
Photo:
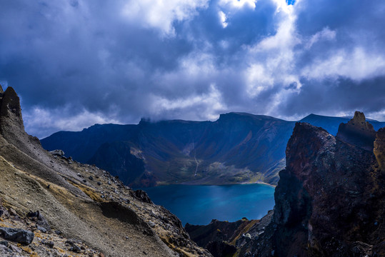
POLYGON ((274 1, 276 15, 281 18, 276 34, 267 36, 248 49, 249 69, 246 69, 244 76, 251 97, 276 84, 289 85, 295 82, 295 90, 301 87, 294 69, 294 46, 301 43, 296 34, 296 15, 292 11, 293 6, 287 6, 286 1, 274 1))

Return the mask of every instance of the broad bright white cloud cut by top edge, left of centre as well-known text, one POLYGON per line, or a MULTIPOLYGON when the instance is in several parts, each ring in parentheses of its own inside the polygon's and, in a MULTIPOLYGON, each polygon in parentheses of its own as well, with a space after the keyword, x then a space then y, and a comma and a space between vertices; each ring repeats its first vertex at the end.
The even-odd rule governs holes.
POLYGON ((197 9, 206 8, 209 0, 130 0, 122 9, 123 16, 136 24, 160 29, 173 35, 174 21, 190 19, 197 9))

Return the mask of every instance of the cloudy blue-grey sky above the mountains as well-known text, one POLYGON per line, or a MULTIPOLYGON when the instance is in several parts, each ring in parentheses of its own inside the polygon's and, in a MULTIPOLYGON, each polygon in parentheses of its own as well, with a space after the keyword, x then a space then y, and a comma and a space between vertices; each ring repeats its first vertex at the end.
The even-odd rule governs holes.
POLYGON ((0 84, 43 138, 242 111, 385 121, 385 1, 0 1, 0 84))

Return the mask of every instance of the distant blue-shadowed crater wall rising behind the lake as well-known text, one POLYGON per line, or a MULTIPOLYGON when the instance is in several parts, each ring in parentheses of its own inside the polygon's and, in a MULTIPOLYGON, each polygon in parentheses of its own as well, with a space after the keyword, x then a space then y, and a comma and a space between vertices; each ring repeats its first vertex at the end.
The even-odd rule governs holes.
MULTIPOLYGON (((349 118, 311 114, 301 122, 336 135, 349 118)), ((384 122, 369 121, 374 129, 384 122)), ((76 161, 104 168, 129 186, 169 183, 276 184, 295 121, 245 113, 217 121, 142 120, 138 125, 96 124, 80 132, 59 131, 41 140, 76 161)))

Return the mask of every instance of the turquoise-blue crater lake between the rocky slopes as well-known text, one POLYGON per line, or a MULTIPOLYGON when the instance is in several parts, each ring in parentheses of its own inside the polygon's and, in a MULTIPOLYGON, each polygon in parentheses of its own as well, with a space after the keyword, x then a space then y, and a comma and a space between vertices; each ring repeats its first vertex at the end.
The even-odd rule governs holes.
POLYGON ((144 188, 154 203, 186 223, 206 225, 211 219, 257 219, 274 207, 274 187, 262 184, 230 186, 170 185, 144 188))

